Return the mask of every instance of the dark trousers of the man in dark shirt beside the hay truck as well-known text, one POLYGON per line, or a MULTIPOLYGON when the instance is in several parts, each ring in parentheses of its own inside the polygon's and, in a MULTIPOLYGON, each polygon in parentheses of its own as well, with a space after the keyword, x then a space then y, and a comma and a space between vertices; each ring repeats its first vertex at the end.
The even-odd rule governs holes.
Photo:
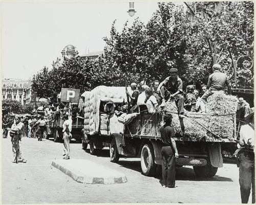
POLYGON ((162 147, 161 154, 163 185, 167 187, 175 187, 176 170, 174 151, 170 146, 164 146, 162 147))

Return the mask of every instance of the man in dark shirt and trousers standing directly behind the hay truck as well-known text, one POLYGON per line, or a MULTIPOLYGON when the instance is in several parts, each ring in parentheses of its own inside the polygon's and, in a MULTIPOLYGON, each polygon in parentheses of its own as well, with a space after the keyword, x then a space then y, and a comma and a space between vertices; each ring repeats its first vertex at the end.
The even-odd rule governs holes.
POLYGON ((172 114, 166 114, 163 118, 164 125, 160 127, 161 139, 165 144, 162 147, 162 178, 163 187, 175 188, 175 158, 179 157, 176 143, 174 141, 174 128, 172 123, 172 114))

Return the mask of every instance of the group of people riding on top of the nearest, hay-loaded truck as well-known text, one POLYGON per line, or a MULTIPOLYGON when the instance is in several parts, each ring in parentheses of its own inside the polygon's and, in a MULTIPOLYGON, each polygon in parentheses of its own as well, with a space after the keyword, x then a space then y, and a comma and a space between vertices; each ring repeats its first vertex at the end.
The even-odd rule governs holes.
POLYGON ((227 76, 220 72, 221 66, 215 64, 212 69, 214 73, 209 76, 207 85, 201 85, 201 90, 196 89, 195 85, 188 85, 183 92, 183 82, 177 75, 176 68, 170 69, 170 76, 161 83, 158 80, 150 86, 145 81, 132 83, 132 93, 126 92, 131 99, 131 112, 138 111, 139 106, 145 105, 148 112, 154 113, 157 106, 164 107, 167 101, 174 100, 180 118, 184 118, 184 108, 191 112, 205 113, 205 103, 210 95, 219 90, 228 94, 231 92, 227 76))

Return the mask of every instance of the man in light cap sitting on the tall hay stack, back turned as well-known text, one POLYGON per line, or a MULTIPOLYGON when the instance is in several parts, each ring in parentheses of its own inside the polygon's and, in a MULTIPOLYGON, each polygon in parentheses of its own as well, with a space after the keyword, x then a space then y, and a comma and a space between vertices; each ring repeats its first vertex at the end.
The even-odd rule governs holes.
POLYGON ((221 65, 214 64, 212 66, 212 70, 214 71, 214 73, 212 73, 209 76, 208 83, 207 83, 207 90, 202 96, 202 101, 204 103, 206 103, 208 97, 210 97, 212 94, 214 94, 219 90, 225 91, 227 88, 228 94, 231 94, 231 84, 227 79, 227 75, 220 72, 221 65))

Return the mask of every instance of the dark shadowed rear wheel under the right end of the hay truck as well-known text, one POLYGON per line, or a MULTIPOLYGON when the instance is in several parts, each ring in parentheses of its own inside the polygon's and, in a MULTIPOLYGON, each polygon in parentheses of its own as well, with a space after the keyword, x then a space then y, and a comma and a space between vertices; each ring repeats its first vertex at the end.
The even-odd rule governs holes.
POLYGON ((218 171, 218 167, 212 167, 210 160, 207 160, 207 164, 203 167, 193 166, 194 172, 198 177, 213 177, 218 171))

